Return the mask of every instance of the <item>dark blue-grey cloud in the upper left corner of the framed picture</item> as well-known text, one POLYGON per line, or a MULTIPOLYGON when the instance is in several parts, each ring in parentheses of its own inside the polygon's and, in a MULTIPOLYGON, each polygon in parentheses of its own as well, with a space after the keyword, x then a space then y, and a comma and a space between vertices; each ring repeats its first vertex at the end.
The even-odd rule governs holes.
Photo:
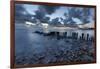
POLYGON ((33 21, 31 20, 31 16, 23 4, 16 4, 15 5, 15 19, 20 23, 25 23, 26 21, 33 21))

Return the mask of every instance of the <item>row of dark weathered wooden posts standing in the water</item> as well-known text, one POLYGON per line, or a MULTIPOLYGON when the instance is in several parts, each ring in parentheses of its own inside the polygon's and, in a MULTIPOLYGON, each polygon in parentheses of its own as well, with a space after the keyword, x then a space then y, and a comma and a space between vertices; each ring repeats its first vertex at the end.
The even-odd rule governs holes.
POLYGON ((41 32, 41 34, 43 34, 44 36, 54 36, 58 40, 68 38, 68 39, 75 39, 75 40, 94 41, 94 37, 90 36, 89 33, 87 33, 87 34, 81 33, 81 35, 79 35, 78 32, 72 32, 71 35, 68 35, 68 32, 55 32, 54 31, 54 32, 50 32, 50 33, 41 32))

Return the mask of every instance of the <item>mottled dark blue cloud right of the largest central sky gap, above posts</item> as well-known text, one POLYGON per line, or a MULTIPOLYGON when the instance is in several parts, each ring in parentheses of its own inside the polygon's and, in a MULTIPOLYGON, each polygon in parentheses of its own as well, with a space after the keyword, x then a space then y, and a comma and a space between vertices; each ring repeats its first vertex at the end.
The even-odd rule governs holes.
POLYGON ((69 8, 68 13, 64 13, 64 16, 66 18, 64 20, 64 23, 71 23, 71 22, 75 23, 72 20, 72 17, 79 19, 82 23, 90 23, 89 21, 91 16, 90 13, 91 13, 90 8, 75 8, 75 7, 69 8))

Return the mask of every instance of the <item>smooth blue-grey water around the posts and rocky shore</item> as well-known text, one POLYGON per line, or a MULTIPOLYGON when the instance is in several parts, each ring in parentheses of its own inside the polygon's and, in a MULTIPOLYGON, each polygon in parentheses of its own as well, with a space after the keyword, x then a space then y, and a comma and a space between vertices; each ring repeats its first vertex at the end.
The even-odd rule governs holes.
MULTIPOLYGON (((48 51, 47 47, 51 46, 64 46, 66 45, 65 42, 58 41, 58 40, 50 40, 48 37, 33 33, 35 28, 29 28, 25 25, 21 24, 16 24, 15 25, 15 54, 16 54, 16 63, 18 64, 17 61, 22 62, 22 58, 28 59, 28 60, 23 60, 22 64, 29 63, 31 61, 31 57, 34 54, 41 54, 41 53, 46 53, 48 51)), ((81 33, 87 34, 89 33, 90 36, 94 36, 93 30, 64 30, 68 32, 68 35, 71 35, 71 32, 78 32, 79 35, 81 33)), ((70 46, 70 44, 69 44, 70 46)), ((67 46, 68 49, 70 47, 67 46)), ((52 49, 52 48, 51 48, 52 49)), ((50 55, 49 55, 50 56, 50 55)), ((34 57, 34 56, 33 56, 34 57)), ((51 56, 50 56, 51 57, 51 56)), ((47 63, 46 61, 49 59, 54 59, 53 56, 51 58, 47 57, 45 60, 43 60, 44 63, 47 63), (48 58, 48 59, 47 59, 48 58)), ((56 60, 56 59, 54 59, 56 60)), ((49 61, 48 61, 49 62, 49 61)), ((33 60, 32 63, 35 63, 35 60, 33 60)))

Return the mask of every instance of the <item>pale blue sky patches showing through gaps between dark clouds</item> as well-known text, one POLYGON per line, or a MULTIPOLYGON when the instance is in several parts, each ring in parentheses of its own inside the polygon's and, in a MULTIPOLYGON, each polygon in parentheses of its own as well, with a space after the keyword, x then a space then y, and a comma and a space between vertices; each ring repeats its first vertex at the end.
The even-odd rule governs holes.
MULTIPOLYGON (((32 5, 32 4, 22 4, 22 5, 26 9, 26 11, 28 13, 32 14, 32 15, 35 15, 35 11, 37 11, 39 9, 39 6, 41 6, 41 5, 32 5)), ((69 8, 73 8, 73 7, 60 6, 60 8, 56 9, 52 14, 46 14, 45 16, 50 17, 50 21, 54 18, 57 18, 57 17, 61 17, 61 18, 65 19, 64 13, 68 13, 69 8)), ((79 7, 77 7, 77 8, 79 8, 79 7)), ((79 8, 79 9, 82 9, 82 7, 79 8)), ((94 18, 94 9, 91 8, 90 10, 91 10, 91 12, 90 12, 91 15, 88 17, 88 20, 90 20, 90 22, 93 23, 94 22, 94 20, 93 20, 93 18, 94 18)), ((77 24, 82 23, 82 21, 79 20, 78 18, 72 17, 72 20, 76 21, 77 24)))

